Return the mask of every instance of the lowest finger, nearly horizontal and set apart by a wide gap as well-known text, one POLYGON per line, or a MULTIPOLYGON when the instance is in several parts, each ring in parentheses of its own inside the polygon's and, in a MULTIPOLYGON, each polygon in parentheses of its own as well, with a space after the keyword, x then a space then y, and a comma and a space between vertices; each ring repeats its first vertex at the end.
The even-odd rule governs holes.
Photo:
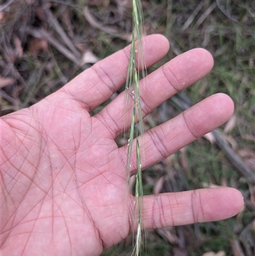
POLYGON ((143 206, 145 228, 157 229, 230 218, 242 209, 244 198, 234 188, 204 188, 145 196, 143 206))

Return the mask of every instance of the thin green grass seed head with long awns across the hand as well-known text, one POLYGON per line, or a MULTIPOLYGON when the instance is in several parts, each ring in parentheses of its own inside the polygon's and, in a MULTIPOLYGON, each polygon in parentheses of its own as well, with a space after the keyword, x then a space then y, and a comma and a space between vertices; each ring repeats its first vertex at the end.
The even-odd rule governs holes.
MULTIPOLYGON (((136 137, 136 185, 135 185, 135 203, 131 222, 133 223, 133 229, 137 222, 136 239, 134 239, 134 250, 132 255, 140 255, 142 241, 143 241, 143 230, 145 226, 143 224, 143 184, 142 184, 142 155, 140 151, 140 141, 142 142, 144 128, 143 128, 143 117, 142 108, 140 102, 140 90, 139 90, 139 72, 142 70, 142 76, 145 76, 146 67, 143 57, 143 10, 140 0, 133 0, 133 31, 132 31, 132 42, 128 65, 128 74, 125 86, 125 98, 124 98, 124 111, 125 116, 129 114, 131 107, 131 122, 129 122, 129 116, 126 116, 126 124, 124 130, 127 130, 127 126, 131 123, 129 130, 128 139, 128 156, 126 162, 126 191, 127 195, 129 192, 129 180, 131 170, 131 157, 133 151, 133 140, 136 137), (135 40, 137 38, 137 47, 135 40), (138 121, 138 124, 136 124, 138 121), (135 129, 135 124, 139 126, 135 129), (138 132, 140 134, 138 134, 138 132), (140 139, 138 139, 140 135, 140 139), (138 218, 136 220, 136 213, 138 218)), ((145 242, 146 243, 146 242, 145 242)))

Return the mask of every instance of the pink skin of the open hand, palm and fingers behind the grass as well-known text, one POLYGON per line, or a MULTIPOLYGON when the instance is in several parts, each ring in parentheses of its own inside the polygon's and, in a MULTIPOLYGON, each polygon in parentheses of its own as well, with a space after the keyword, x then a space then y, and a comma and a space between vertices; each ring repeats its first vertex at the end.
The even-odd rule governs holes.
MULTIPOLYGON (((115 143, 123 132, 124 94, 90 115, 124 84, 129 50, 100 61, 33 107, 1 118, 1 255, 94 256, 133 231, 134 198, 126 199, 125 190, 127 146, 115 143)), ((166 38, 148 36, 147 66, 168 50, 166 38)), ((206 50, 194 49, 151 73, 140 86, 143 116, 212 66, 206 50)), ((146 132, 145 168, 232 114, 232 100, 215 94, 146 132)), ((150 195, 144 198, 144 222, 147 229, 211 222, 236 215, 242 206, 233 188, 150 195)))

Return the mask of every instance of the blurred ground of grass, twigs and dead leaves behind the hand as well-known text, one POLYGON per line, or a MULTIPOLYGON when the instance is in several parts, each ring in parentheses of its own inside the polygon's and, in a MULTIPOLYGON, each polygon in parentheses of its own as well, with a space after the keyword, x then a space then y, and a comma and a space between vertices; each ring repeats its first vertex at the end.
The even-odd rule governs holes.
MULTIPOLYGON (((40 101, 131 41, 131 0, 0 3, 1 116, 40 101)), ((142 0, 142 5, 146 33, 164 34, 171 45, 149 73, 196 47, 210 51, 215 61, 207 77, 145 117, 145 130, 214 93, 235 102, 228 123, 145 170, 144 193, 231 186, 245 200, 229 220, 149 230, 146 255, 255 255, 255 3, 142 0)), ((132 246, 131 235, 101 256, 131 255, 132 246)))

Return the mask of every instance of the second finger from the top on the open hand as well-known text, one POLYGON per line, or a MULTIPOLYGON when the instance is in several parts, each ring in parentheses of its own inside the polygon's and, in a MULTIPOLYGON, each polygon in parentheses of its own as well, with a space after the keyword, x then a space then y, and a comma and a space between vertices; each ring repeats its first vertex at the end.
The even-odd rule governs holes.
MULTIPOLYGON (((193 49, 181 54, 140 82, 143 116, 168 100, 173 94, 191 86, 212 69, 213 59, 204 49, 193 49)), ((110 102, 96 116, 112 132, 113 138, 124 128, 124 93, 110 102)))

